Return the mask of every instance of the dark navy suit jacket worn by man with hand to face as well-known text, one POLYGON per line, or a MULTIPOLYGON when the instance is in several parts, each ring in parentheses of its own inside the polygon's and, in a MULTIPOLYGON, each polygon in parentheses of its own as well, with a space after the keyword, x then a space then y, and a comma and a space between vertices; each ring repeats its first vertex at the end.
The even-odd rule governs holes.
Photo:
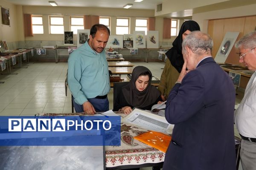
POLYGON ((212 57, 175 84, 165 116, 175 124, 163 170, 235 170, 233 83, 212 57))

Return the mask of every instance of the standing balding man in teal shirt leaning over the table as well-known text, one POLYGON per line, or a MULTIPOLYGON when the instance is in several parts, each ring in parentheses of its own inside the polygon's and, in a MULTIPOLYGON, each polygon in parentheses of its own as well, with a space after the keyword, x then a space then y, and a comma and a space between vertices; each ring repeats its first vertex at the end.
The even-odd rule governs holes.
POLYGON ((92 26, 87 42, 68 59, 67 81, 77 113, 94 114, 109 109, 110 82, 104 51, 109 34, 105 25, 92 26))

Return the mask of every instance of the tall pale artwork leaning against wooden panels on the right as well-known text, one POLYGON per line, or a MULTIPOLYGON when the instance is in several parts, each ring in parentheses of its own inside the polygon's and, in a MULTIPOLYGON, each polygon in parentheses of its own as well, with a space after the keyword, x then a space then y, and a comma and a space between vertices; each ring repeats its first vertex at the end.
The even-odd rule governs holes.
POLYGON ((233 45, 236 42, 236 39, 239 35, 239 32, 227 32, 225 37, 221 42, 221 46, 218 49, 218 52, 215 56, 215 62, 217 63, 224 63, 230 54, 233 45))

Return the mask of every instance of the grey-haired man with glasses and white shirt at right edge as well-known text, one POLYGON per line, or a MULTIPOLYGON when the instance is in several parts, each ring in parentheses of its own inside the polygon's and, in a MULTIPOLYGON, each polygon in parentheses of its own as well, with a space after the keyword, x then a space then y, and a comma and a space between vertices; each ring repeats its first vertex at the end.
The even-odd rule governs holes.
MULTIPOLYGON (((256 71, 256 31, 236 42, 239 48, 239 62, 256 71)), ((239 107, 235 123, 242 138, 240 158, 243 170, 256 170, 256 73, 250 78, 239 107)))

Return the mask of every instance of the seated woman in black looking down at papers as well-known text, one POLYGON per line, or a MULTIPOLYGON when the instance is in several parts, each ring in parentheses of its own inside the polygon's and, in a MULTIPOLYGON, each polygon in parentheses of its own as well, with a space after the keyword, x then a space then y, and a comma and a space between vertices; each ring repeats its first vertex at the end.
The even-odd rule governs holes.
POLYGON ((144 66, 137 66, 131 74, 131 81, 122 87, 120 95, 116 97, 114 111, 124 111, 130 114, 132 108, 151 110, 151 107, 161 103, 160 92, 150 84, 151 71, 144 66))

